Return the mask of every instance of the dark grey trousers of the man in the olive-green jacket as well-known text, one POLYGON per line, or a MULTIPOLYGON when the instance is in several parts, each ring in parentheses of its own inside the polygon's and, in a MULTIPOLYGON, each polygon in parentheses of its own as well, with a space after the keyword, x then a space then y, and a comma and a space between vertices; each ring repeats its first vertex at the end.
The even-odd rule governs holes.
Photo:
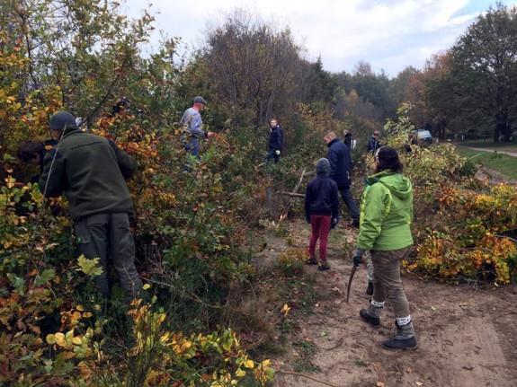
POLYGON ((138 297, 142 291, 142 280, 135 267, 135 243, 129 229, 128 214, 86 216, 76 222, 76 239, 79 252, 86 259, 99 258, 103 274, 95 277, 95 281, 101 295, 106 298, 110 296, 108 257, 111 257, 127 300, 138 297))

